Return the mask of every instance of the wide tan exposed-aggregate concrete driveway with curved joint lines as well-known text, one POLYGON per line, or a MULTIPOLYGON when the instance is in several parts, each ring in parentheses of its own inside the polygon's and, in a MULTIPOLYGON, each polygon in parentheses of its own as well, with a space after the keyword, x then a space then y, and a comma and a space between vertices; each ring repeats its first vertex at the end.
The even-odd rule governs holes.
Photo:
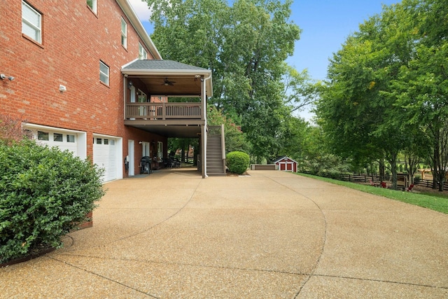
POLYGON ((0 298, 448 298, 448 216, 286 172, 107 183, 0 298))

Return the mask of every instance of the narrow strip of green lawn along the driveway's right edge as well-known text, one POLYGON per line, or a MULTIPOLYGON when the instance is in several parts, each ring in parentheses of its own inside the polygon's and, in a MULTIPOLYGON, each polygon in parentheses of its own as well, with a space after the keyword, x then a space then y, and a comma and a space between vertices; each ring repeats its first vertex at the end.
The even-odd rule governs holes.
POLYGON ((448 195, 446 193, 412 193, 403 192, 401 190, 391 190, 384 188, 377 188, 370 185, 362 185, 360 183, 351 183, 348 181, 337 181, 335 179, 327 179, 321 176, 312 176, 310 174, 298 174, 300 176, 307 176, 312 179, 334 183, 339 186, 344 186, 351 189, 371 193, 374 195, 384 196, 391 200, 399 200, 400 202, 407 202, 408 204, 415 204, 416 206, 440 211, 448 214, 448 195))

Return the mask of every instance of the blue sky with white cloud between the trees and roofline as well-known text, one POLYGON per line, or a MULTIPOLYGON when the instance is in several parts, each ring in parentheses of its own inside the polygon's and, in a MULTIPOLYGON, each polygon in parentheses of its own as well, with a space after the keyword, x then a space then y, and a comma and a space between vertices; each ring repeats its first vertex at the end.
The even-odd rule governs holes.
MULTIPOLYGON (((141 0, 129 0, 151 35, 148 20, 151 12, 141 0)), ((314 80, 323 80, 327 74, 328 59, 342 48, 349 34, 372 15, 381 13, 382 4, 391 5, 399 0, 295 0, 291 6, 291 21, 302 29, 295 43, 294 55, 288 64, 297 71, 308 69, 314 80)), ((157 45, 155 45, 157 47, 157 45)), ((309 119, 307 111, 300 113, 309 119)))

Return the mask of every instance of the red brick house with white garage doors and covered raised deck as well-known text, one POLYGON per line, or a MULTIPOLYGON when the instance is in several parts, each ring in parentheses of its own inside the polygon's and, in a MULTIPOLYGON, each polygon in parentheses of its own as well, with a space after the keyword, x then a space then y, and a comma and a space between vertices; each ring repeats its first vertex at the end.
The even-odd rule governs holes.
POLYGON ((3 0, 0 20, 0 114, 92 158, 104 181, 166 158, 169 137, 200 139, 207 176, 211 71, 162 60, 127 0, 3 0))

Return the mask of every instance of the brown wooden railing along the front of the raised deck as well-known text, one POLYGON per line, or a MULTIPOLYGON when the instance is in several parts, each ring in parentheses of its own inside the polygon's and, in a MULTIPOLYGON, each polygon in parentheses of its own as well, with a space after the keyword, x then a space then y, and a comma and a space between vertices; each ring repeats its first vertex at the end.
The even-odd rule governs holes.
POLYGON ((128 120, 202 119, 201 103, 126 103, 128 120))

